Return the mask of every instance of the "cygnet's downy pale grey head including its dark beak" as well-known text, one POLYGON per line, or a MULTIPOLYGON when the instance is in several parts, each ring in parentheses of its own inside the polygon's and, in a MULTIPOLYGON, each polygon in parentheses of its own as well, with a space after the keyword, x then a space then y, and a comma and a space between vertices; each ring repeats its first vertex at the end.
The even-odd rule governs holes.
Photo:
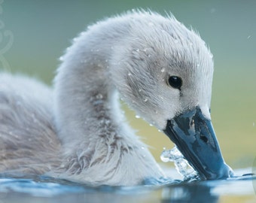
POLYGON ((159 14, 131 14, 110 73, 123 100, 177 145, 201 179, 230 177, 210 117, 212 53, 193 31, 159 14))

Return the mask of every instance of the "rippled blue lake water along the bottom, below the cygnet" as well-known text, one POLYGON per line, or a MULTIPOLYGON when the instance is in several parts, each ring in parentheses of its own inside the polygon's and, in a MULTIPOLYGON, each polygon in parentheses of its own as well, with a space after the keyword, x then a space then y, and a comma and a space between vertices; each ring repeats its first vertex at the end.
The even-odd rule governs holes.
MULTIPOLYGON (((50 177, 0 178, 0 203, 8 202, 256 202, 256 176, 239 169, 238 177, 164 185, 90 187, 50 177), (245 174, 242 176, 242 174, 245 174), (247 174, 247 175, 246 175, 247 174)), ((178 177, 174 168, 168 169, 178 177)), ((174 174, 174 176, 173 176, 174 174)))

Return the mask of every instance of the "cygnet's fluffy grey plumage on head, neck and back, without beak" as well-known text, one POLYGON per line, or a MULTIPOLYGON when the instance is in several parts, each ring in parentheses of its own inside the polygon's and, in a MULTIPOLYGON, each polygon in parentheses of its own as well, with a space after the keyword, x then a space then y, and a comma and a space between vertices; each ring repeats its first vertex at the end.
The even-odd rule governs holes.
POLYGON ((1 172, 93 185, 164 177, 125 123, 119 96, 160 130, 195 107, 210 120, 212 54, 174 17, 135 11, 103 20, 75 38, 61 60, 53 89, 0 75, 1 172), (166 83, 171 75, 182 78, 181 89, 166 83))

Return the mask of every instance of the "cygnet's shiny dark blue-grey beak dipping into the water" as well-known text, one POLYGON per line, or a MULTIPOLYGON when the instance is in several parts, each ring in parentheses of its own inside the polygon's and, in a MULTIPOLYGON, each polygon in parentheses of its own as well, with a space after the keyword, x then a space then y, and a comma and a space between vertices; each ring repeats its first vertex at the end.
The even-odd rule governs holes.
POLYGON ((232 169, 221 156, 212 122, 203 116, 199 107, 168 120, 163 132, 176 144, 202 180, 233 176, 232 169))

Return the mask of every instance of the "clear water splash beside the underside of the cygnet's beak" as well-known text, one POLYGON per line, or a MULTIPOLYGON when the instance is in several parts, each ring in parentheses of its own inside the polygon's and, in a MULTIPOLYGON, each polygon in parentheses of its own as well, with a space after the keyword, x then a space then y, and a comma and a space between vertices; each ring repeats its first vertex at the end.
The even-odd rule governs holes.
POLYGON ((192 168, 182 153, 175 146, 172 150, 166 150, 163 148, 163 152, 161 153, 160 159, 163 162, 174 162, 175 168, 183 180, 199 180, 199 175, 197 171, 192 168))

